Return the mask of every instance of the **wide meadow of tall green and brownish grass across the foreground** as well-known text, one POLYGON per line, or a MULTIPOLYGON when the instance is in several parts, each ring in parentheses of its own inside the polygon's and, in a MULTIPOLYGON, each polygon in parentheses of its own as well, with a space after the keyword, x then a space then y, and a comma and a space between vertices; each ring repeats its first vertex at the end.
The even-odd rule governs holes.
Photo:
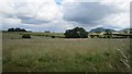
MULTIPOLYGON (((130 72, 130 39, 52 38, 2 34, 3 72, 130 72)), ((55 34, 64 37, 63 34, 55 34)))

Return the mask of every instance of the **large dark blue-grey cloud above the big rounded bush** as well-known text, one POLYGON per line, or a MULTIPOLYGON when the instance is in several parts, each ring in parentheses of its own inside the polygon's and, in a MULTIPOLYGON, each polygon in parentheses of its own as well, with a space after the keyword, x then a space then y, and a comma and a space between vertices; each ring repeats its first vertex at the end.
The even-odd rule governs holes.
POLYGON ((117 13, 114 7, 101 4, 100 2, 70 2, 65 4, 63 18, 82 25, 97 25, 102 18, 117 13))

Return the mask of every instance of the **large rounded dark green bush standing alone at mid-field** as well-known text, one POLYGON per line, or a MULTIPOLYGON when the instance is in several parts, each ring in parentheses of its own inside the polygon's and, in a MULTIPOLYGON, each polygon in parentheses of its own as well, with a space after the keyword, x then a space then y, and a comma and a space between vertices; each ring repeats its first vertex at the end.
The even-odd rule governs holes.
POLYGON ((82 27, 67 29, 64 35, 66 38, 88 38, 88 33, 82 27))

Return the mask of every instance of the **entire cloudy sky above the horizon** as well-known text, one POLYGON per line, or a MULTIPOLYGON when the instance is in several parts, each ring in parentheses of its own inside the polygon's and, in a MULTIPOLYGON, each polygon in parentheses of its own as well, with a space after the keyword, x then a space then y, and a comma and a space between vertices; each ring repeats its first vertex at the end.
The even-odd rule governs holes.
POLYGON ((0 0, 0 29, 65 32, 130 27, 131 0, 0 0))

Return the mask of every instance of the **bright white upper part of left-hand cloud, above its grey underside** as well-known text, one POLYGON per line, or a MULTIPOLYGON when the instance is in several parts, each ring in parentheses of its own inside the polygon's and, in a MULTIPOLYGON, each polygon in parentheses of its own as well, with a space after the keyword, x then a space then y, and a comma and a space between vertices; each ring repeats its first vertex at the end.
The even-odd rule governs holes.
POLYGON ((11 2, 3 1, 3 4, 1 4, 0 8, 0 13, 15 16, 35 17, 43 20, 55 20, 61 16, 61 12, 57 9, 54 0, 25 0, 23 2, 18 0, 13 0, 11 2))

